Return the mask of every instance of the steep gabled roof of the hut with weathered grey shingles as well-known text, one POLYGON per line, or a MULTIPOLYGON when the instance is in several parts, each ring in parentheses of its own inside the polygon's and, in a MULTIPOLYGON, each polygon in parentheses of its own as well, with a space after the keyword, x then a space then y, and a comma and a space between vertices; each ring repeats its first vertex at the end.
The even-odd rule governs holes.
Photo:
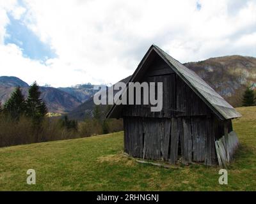
MULTIPOLYGON (((220 94, 218 94, 212 87, 210 87, 202 78, 200 78, 194 71, 186 68, 179 61, 173 59, 170 55, 166 54, 161 48, 156 45, 152 45, 147 54, 143 57, 138 68, 134 71, 129 82, 135 82, 136 78, 142 71, 143 65, 148 61, 148 56, 156 52, 169 66, 179 75, 186 84, 211 108, 220 119, 234 119, 241 117, 241 114, 235 110, 225 99, 223 99, 220 94)), ((127 83, 129 83, 127 82, 127 83)), ((120 111, 122 110, 121 105, 113 105, 109 111, 107 117, 119 117, 120 111)))

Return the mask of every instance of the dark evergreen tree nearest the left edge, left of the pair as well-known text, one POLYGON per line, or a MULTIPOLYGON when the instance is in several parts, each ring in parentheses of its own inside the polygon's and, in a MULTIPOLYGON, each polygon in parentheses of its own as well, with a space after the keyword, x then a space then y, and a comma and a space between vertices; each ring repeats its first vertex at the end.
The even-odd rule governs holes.
POLYGON ((4 113, 10 115, 12 119, 19 119, 20 115, 26 110, 25 98, 22 95, 20 87, 17 87, 12 96, 4 103, 4 113))

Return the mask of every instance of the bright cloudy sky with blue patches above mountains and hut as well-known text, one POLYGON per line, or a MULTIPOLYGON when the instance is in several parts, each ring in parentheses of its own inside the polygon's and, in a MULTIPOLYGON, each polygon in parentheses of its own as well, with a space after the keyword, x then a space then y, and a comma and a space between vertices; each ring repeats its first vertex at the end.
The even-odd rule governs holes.
POLYGON ((0 0, 0 76, 113 84, 152 43, 180 62, 256 57, 256 1, 0 0))

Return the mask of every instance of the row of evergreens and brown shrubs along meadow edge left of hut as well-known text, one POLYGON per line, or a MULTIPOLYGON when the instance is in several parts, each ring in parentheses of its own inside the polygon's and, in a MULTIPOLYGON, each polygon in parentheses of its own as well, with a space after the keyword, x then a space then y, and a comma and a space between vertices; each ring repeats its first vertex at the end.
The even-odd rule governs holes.
POLYGON ((40 87, 34 82, 27 98, 17 87, 3 106, 0 104, 0 147, 81 138, 123 129, 122 120, 105 119, 109 106, 95 106, 92 115, 81 122, 70 120, 67 115, 48 117, 47 106, 40 96, 40 87))

